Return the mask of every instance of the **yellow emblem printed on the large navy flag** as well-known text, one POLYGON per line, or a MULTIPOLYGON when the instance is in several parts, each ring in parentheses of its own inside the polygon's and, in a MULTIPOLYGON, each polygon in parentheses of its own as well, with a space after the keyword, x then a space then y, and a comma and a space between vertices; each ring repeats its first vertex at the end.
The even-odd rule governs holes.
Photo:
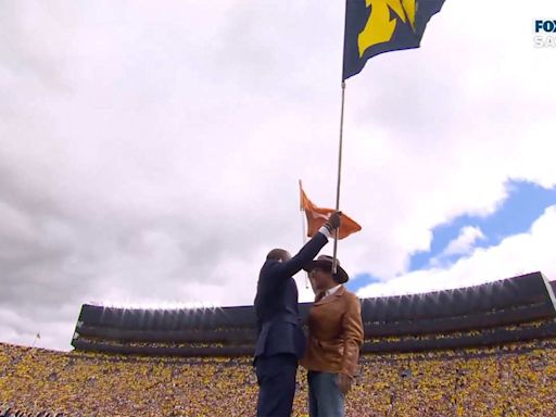
POLYGON ((417 0, 365 0, 367 8, 370 5, 370 16, 365 28, 359 34, 357 45, 359 58, 370 47, 388 42, 392 39, 397 26, 397 20, 409 22, 415 31, 415 14, 417 0), (390 20, 390 10, 396 14, 396 18, 390 20))

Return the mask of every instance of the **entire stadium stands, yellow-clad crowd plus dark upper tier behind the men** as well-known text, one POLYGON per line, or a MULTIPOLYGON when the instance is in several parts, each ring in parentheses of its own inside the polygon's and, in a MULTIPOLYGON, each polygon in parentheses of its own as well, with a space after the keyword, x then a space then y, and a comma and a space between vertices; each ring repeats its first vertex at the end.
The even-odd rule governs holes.
MULTIPOLYGON (((534 273, 363 300, 348 416, 556 416, 554 286, 534 273)), ((84 305, 73 352, 0 344, 0 416, 254 415, 253 318, 251 307, 84 305)), ((298 381, 300 417, 302 369, 298 381)))

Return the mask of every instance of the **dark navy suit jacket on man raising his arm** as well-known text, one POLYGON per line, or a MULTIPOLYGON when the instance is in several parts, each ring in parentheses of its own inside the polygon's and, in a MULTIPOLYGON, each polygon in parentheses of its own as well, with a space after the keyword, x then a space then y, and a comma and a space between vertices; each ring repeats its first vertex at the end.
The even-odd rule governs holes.
POLYGON ((298 287, 292 276, 327 242, 326 236, 317 232, 290 261, 264 263, 254 302, 258 329, 255 358, 279 353, 291 353, 298 358, 303 356, 305 336, 300 325, 298 287))

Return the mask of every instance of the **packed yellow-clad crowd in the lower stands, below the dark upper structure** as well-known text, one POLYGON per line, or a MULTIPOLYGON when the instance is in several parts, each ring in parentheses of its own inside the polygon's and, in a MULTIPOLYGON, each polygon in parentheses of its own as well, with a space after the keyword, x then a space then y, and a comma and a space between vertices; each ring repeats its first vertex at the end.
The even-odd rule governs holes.
MULTIPOLYGON (((303 416, 302 369, 298 380, 294 415, 303 416)), ((354 417, 549 416, 555 387, 556 340, 364 355, 346 408, 354 417)), ((0 344, 0 413, 250 416, 256 393, 249 357, 137 357, 0 344)))

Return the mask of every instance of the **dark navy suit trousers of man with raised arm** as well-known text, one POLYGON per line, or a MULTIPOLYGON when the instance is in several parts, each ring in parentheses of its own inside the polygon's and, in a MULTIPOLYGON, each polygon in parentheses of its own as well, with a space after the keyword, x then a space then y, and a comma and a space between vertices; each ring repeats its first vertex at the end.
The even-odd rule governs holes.
POLYGON ((258 383, 257 417, 290 417, 298 357, 293 354, 258 356, 255 369, 258 383))

